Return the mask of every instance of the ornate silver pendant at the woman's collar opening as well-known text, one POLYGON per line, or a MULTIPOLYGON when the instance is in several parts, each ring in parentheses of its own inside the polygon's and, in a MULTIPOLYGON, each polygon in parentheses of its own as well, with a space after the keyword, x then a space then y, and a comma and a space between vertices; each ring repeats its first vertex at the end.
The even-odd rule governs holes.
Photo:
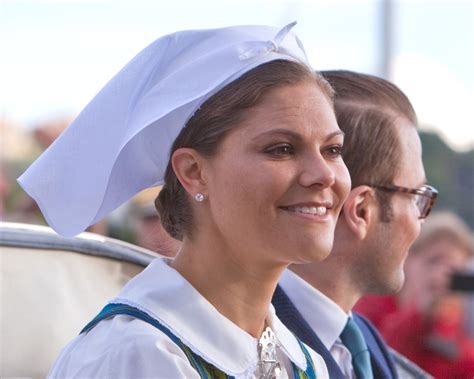
POLYGON ((258 341, 258 363, 255 377, 257 379, 276 379, 281 374, 281 365, 277 358, 278 343, 273 330, 265 329, 258 341))

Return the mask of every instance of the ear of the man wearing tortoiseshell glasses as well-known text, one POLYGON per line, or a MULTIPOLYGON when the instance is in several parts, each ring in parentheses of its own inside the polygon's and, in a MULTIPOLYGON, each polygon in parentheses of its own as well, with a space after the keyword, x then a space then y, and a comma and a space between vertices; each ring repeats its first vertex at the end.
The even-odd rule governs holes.
POLYGON ((378 203, 374 190, 364 185, 353 188, 342 207, 342 217, 347 227, 359 240, 367 236, 377 212, 378 203))

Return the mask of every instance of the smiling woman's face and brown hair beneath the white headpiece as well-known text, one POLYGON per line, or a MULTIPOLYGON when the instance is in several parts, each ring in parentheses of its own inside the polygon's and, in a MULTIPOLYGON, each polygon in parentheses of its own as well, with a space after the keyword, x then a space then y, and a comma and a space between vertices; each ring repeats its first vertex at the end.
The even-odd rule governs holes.
POLYGON ((195 210, 200 237, 219 246, 213 236, 223 234, 225 246, 217 251, 248 255, 252 266, 269 257, 288 263, 295 254, 301 261, 329 254, 349 181, 330 95, 327 84, 299 64, 274 61, 208 100, 172 148, 169 185, 157 201, 170 234, 193 236, 186 193, 203 193, 209 207, 195 210), (202 172, 183 177, 187 165, 202 172), (201 176, 204 185, 196 183, 201 176))

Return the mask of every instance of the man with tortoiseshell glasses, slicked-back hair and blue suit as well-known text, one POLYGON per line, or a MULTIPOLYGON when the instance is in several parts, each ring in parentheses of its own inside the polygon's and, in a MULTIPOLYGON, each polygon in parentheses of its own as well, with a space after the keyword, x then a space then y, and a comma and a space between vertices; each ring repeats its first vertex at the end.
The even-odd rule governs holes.
POLYGON ((437 191, 425 184, 415 111, 393 84, 349 71, 322 73, 336 91, 352 191, 323 262, 286 271, 273 304, 326 361, 331 378, 396 378, 392 354, 351 309, 365 294, 400 290, 403 264, 437 191))

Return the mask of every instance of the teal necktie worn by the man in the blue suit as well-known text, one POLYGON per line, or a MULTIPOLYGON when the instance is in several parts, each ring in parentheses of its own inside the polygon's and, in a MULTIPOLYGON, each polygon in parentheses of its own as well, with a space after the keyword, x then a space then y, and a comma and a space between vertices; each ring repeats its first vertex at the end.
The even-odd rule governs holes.
POLYGON ((349 349, 352 355, 352 367, 358 379, 373 379, 372 366, 370 364, 370 353, 365 343, 364 336, 352 318, 341 333, 342 343, 349 349))

